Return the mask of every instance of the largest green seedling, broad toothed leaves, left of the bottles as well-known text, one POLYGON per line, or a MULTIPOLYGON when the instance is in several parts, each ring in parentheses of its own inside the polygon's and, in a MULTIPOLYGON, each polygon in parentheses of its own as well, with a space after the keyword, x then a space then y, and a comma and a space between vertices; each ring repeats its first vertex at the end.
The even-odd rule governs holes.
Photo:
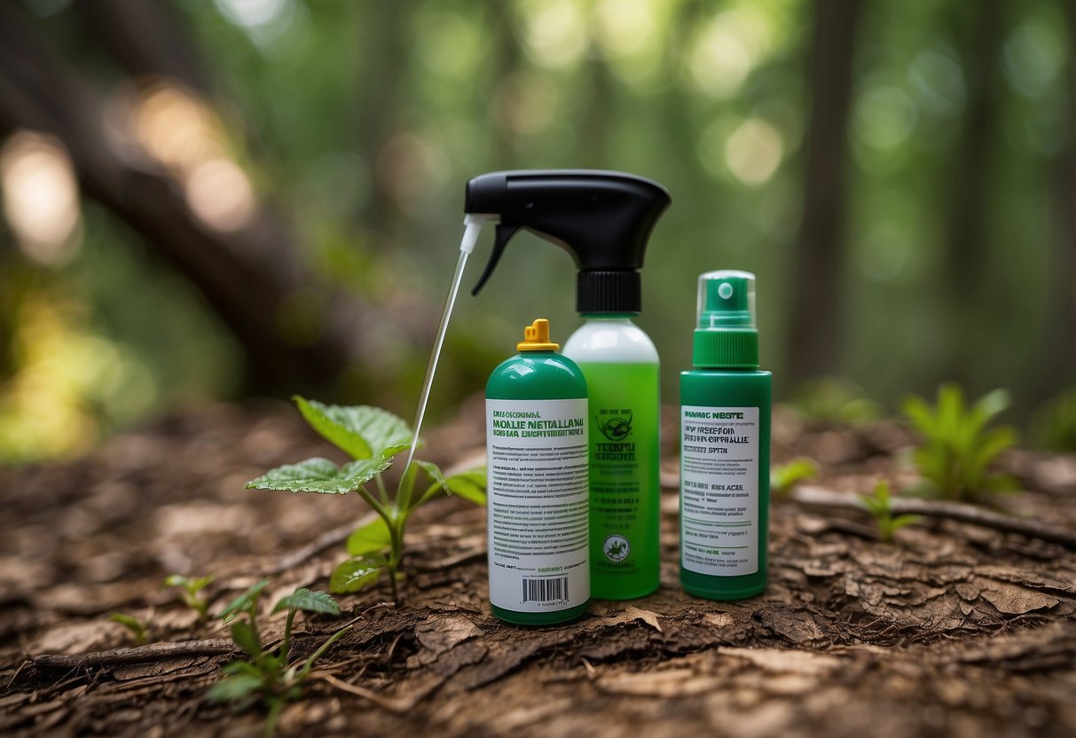
POLYGON ((332 572, 329 588, 338 594, 358 592, 387 577, 393 600, 398 600, 396 582, 411 513, 441 495, 457 495, 485 505, 485 470, 445 478, 436 465, 413 459, 396 492, 390 494, 381 474, 392 466, 396 454, 411 448, 411 428, 404 420, 369 406, 323 405, 299 396, 293 399, 307 423, 354 460, 337 467, 326 458, 308 458, 273 469, 246 486, 323 495, 355 493, 362 497, 378 513, 378 520, 348 539, 351 558, 332 572), (425 486, 419 486, 420 472, 426 478, 425 486))

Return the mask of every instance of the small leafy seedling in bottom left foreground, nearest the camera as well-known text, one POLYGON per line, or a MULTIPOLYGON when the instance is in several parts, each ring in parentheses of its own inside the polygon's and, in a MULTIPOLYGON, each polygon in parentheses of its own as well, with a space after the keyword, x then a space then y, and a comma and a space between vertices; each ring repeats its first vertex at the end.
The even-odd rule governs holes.
POLYGON ((277 729, 280 711, 287 702, 302 695, 302 683, 310 676, 314 663, 325 655, 334 643, 343 638, 351 629, 351 625, 329 636, 305 661, 291 664, 292 627, 295 624, 296 613, 302 610, 339 615, 340 606, 324 592, 299 587, 273 607, 273 614, 287 610, 287 620, 284 621, 284 638, 280 647, 267 650, 258 635, 257 615, 258 598, 268 584, 268 579, 252 584, 221 612, 221 619, 231 626, 231 638, 236 641, 236 645, 241 648, 250 659, 226 664, 222 668, 224 678, 210 687, 206 696, 214 702, 233 702, 240 709, 250 707, 260 699, 268 709, 264 732, 265 735, 271 736, 277 729), (245 615, 246 620, 239 620, 240 615, 245 615))

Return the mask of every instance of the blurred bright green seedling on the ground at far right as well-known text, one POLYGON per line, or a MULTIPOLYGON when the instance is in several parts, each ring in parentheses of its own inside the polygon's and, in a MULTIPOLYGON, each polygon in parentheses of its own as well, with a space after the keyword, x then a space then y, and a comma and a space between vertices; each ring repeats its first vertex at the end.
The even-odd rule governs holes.
POLYGON ((914 458, 926 492, 962 500, 1016 489, 1011 477, 989 469, 1016 442, 1016 431, 1009 426, 987 427, 1008 406, 1008 393, 995 389, 967 407, 963 389, 955 384, 938 388, 934 408, 921 397, 904 400, 904 414, 923 439, 914 458))

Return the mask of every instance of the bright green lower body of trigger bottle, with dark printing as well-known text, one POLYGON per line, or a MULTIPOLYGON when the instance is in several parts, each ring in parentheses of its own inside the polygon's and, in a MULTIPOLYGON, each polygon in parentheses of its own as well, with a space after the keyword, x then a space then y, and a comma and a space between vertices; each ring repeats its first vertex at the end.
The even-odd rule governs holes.
POLYGON ((592 593, 650 591, 661 554, 657 366, 580 368, 590 391, 592 593))

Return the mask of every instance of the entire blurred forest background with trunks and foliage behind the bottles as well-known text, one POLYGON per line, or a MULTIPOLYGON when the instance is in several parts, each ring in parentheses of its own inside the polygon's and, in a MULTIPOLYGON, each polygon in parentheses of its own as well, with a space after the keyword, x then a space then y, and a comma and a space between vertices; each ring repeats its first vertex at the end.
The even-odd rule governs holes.
MULTIPOLYGON (((671 193, 639 317, 666 401, 697 274, 739 268, 779 398, 1004 386, 1050 442, 1076 378, 1074 48, 1064 0, 6 0, 0 460, 209 399, 410 417, 466 180, 553 167, 671 193)), ((435 421, 534 317, 566 339, 574 274, 522 236, 462 294, 435 421)))

